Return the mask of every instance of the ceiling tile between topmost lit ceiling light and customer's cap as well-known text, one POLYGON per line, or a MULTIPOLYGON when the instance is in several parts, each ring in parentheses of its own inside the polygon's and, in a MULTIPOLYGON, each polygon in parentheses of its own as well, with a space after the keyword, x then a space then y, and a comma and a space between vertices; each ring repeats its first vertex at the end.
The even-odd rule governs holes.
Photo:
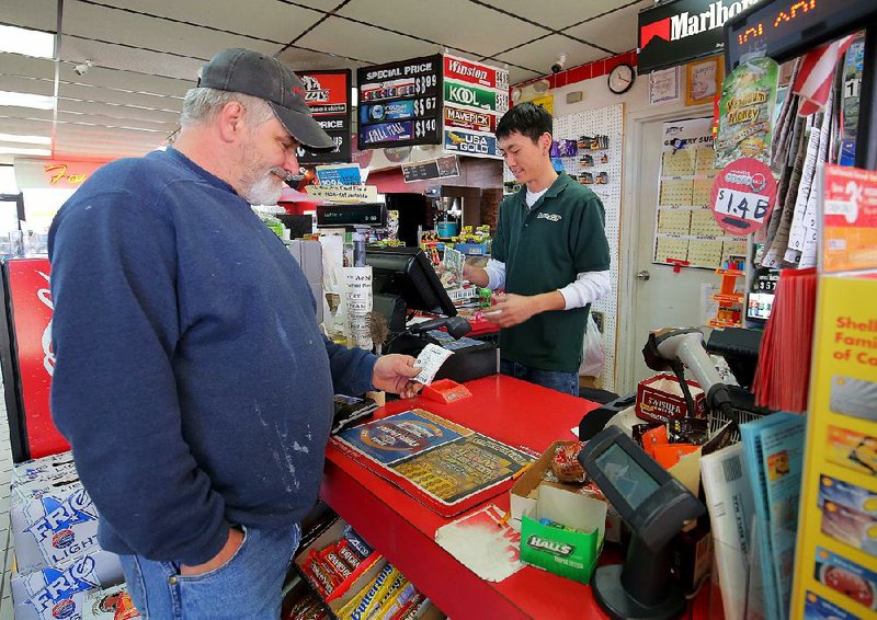
POLYGON ((159 54, 146 49, 132 49, 122 45, 112 45, 88 41, 76 36, 64 36, 61 59, 82 62, 91 58, 99 67, 123 69, 151 76, 189 80, 194 85, 198 69, 204 61, 196 58, 180 58, 169 54, 159 54))

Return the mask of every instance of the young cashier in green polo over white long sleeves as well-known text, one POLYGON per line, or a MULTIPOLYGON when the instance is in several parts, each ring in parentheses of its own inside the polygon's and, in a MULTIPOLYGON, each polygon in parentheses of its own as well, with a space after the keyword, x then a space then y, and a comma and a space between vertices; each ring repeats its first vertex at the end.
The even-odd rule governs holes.
POLYGON ((588 312, 611 288, 603 204, 555 172, 551 115, 543 107, 514 106, 497 125, 497 140, 525 186, 500 205, 487 266, 466 265, 464 277, 505 289, 485 313, 501 328, 501 371, 578 395, 588 312))

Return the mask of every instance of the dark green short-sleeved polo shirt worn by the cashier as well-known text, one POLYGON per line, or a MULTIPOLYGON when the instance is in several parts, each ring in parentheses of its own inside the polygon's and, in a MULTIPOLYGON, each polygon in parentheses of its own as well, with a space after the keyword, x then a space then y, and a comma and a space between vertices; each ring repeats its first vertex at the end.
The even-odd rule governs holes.
MULTIPOLYGON (((492 257, 505 263, 505 290, 538 295, 563 288, 582 272, 610 268, 600 198, 560 173, 532 208, 526 187, 500 205, 492 257)), ((578 372, 590 305, 542 312, 500 331, 502 358, 540 370, 578 372)))

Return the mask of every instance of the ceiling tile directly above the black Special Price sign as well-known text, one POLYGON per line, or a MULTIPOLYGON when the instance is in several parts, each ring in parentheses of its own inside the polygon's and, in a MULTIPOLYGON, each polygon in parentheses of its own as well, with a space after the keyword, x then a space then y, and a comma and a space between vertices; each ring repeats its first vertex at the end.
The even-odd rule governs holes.
POLYGON ((353 56, 372 65, 440 51, 435 45, 407 36, 386 36, 379 28, 339 18, 329 18, 296 42, 296 45, 339 56, 353 56), (356 44, 351 45, 352 42, 356 44))

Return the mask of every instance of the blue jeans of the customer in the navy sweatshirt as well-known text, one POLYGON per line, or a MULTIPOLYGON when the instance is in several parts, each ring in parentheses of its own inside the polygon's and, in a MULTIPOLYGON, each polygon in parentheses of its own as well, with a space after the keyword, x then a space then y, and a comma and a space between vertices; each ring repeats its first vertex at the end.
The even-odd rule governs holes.
POLYGON ((301 530, 243 529, 231 559, 202 575, 180 575, 179 562, 122 555, 128 593, 146 620, 277 620, 281 588, 301 530))

